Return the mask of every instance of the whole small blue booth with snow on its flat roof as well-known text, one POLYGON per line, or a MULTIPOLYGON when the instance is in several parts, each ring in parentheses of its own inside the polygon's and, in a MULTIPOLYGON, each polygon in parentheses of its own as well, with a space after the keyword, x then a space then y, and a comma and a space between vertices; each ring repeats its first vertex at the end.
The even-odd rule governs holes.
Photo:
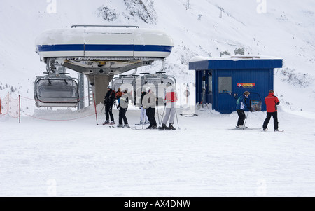
MULTIPOLYGON (((220 58, 194 57, 196 103, 212 104, 221 114, 236 111, 237 98, 248 91, 252 111, 265 111, 265 96, 274 89, 274 69, 282 67, 276 57, 235 55, 220 58)), ((210 109, 210 108, 209 108, 210 109)))

